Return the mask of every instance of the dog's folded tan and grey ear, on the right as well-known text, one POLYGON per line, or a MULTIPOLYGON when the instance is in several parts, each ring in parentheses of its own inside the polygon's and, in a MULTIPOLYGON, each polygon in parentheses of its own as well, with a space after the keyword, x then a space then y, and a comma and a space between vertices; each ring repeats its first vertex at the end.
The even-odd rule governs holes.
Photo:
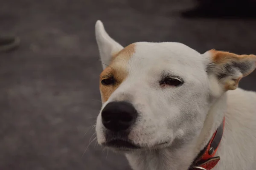
POLYGON ((256 56, 252 54, 237 55, 210 50, 203 55, 207 58, 207 73, 215 75, 224 91, 236 89, 240 79, 256 68, 256 56))

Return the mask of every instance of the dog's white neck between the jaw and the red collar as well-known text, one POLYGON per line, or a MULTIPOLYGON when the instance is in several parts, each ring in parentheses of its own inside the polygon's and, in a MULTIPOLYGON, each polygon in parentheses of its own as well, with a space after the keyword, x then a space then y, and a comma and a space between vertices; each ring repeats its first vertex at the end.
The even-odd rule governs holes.
POLYGON ((227 95, 224 94, 213 102, 201 132, 189 143, 177 141, 176 144, 163 149, 127 153, 131 167, 134 170, 187 170, 221 125, 226 107, 227 95))

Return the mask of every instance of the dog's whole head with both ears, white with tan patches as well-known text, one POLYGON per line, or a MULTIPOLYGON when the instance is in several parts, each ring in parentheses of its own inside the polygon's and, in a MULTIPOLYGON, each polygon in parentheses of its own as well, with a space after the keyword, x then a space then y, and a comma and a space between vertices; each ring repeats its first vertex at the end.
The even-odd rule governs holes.
POLYGON ((99 144, 115 150, 167 147, 200 133, 215 99, 236 89, 256 67, 255 55, 210 50, 177 42, 136 42, 123 48, 96 23, 102 60, 99 144))

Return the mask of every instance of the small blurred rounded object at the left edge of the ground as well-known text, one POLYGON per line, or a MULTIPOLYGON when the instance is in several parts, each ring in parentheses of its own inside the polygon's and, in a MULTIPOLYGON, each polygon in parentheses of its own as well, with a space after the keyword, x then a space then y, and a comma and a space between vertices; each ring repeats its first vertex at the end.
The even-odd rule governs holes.
POLYGON ((1 37, 0 36, 0 52, 11 51, 20 45, 18 37, 1 37))

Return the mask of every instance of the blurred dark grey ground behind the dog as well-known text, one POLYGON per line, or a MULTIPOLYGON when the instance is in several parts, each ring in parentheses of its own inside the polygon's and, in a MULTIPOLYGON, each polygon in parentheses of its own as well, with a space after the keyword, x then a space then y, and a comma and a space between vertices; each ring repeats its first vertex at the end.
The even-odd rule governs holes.
MULTIPOLYGON (((94 24, 102 20, 124 46, 176 41, 201 53, 256 54, 256 20, 180 16, 193 6, 193 0, 0 0, 0 35, 21 39, 16 51, 0 54, 0 170, 130 170, 124 156, 93 141, 102 71, 94 24)), ((240 87, 256 91, 256 71, 240 87)))

